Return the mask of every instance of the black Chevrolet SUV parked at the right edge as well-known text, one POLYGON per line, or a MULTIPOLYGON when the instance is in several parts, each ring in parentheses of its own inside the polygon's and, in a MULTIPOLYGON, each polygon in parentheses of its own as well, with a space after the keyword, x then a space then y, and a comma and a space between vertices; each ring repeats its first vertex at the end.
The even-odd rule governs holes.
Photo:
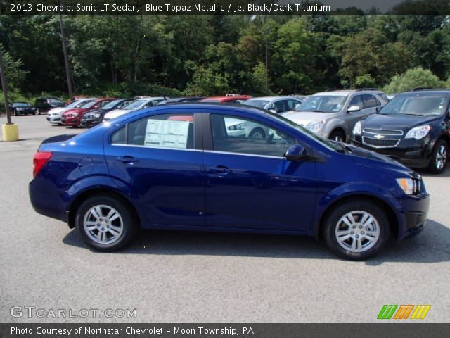
POLYGON ((450 148, 450 89, 399 94, 356 123, 352 143, 412 168, 444 171, 450 148))

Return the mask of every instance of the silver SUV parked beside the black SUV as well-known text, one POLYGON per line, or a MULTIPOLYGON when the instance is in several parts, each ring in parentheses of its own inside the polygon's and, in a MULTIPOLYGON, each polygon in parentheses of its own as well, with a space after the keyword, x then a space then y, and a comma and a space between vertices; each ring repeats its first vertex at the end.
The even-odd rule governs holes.
POLYGON ((380 90, 335 90, 309 96, 282 115, 323 138, 349 142, 356 122, 379 111, 387 101, 380 90))

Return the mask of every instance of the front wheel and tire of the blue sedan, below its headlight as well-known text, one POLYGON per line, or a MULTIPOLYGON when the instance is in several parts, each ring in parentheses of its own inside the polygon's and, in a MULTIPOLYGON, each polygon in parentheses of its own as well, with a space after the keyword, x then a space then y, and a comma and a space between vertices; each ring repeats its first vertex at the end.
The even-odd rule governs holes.
POLYGON ((370 201, 354 200, 340 204, 323 223, 323 237, 328 248, 336 255, 353 261, 378 254, 386 245, 389 234, 390 224, 383 208, 370 201))

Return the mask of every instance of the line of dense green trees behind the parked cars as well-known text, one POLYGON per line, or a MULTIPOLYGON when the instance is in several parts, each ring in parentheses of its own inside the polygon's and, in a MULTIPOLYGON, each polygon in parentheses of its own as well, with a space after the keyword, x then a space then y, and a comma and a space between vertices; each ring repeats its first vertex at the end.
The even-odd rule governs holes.
MULTIPOLYGON (((397 92, 411 89, 405 89, 410 82, 449 85, 446 16, 63 19, 75 94, 397 92)), ((0 48, 13 95, 67 91, 58 16, 0 16, 0 48)))

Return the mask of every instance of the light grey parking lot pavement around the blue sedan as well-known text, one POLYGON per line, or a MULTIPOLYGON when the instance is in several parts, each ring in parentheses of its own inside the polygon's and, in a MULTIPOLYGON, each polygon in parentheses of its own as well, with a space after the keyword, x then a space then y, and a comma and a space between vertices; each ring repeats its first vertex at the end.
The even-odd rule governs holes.
POLYGON ((306 237, 195 232, 141 232, 123 251, 96 253, 76 230, 35 213, 27 192, 42 139, 82 130, 44 116, 13 121, 23 140, 0 142, 2 323, 359 323, 375 322, 384 304, 431 304, 424 322, 449 322, 450 169, 422 173, 432 196, 426 229, 366 262, 342 261, 306 237), (13 306, 46 315, 135 308, 136 318, 13 318, 13 306))

